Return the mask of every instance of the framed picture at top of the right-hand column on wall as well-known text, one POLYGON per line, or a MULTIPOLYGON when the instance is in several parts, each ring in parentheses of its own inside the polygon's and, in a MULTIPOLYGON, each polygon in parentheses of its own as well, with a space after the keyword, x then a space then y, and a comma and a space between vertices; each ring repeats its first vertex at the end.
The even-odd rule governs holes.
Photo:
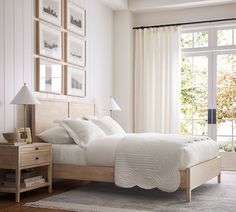
POLYGON ((69 0, 65 0, 65 27, 69 31, 85 36, 85 10, 69 0))

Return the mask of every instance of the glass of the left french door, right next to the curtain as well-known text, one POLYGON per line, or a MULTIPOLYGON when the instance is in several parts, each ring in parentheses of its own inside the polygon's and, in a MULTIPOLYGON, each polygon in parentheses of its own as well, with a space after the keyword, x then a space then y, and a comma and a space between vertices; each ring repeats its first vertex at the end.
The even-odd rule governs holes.
POLYGON ((209 67, 207 53, 194 53, 182 57, 181 67, 181 134, 209 135, 208 107, 209 67))

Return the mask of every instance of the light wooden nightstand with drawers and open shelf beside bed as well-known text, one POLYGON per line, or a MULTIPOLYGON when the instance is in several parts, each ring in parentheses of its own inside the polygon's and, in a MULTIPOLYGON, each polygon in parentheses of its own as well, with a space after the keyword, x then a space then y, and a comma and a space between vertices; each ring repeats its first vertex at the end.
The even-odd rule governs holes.
POLYGON ((19 146, 0 145, 0 172, 15 170, 15 187, 0 187, 0 192, 15 193, 16 202, 20 202, 20 193, 48 186, 52 192, 52 146, 47 143, 23 144, 19 146), (35 169, 45 179, 45 183, 30 187, 21 187, 21 172, 35 169))

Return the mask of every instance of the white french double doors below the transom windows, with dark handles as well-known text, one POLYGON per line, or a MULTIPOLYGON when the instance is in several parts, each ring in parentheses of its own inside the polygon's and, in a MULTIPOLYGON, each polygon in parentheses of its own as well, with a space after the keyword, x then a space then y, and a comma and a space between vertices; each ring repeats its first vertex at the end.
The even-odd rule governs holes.
POLYGON ((207 135, 234 151, 236 51, 187 53, 181 74, 181 133, 207 135))

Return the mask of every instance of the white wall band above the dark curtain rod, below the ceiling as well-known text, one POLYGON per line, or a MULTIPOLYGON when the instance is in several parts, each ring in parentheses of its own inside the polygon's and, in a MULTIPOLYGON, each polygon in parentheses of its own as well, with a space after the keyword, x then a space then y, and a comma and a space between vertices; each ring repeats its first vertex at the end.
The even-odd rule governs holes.
POLYGON ((236 4, 135 14, 135 26, 235 18, 236 4))

